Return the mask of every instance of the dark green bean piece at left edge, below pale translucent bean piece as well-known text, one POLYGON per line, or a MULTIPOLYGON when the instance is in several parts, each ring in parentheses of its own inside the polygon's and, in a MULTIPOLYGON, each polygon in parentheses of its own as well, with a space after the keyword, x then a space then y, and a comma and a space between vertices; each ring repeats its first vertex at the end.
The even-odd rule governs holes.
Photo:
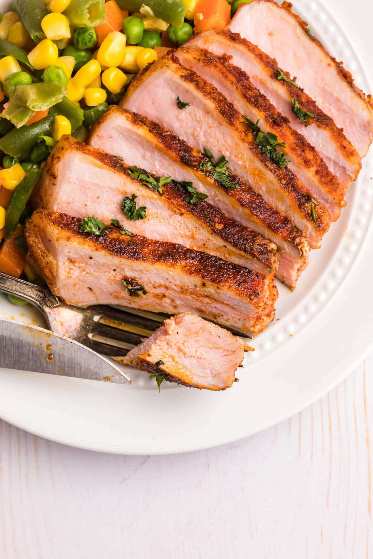
POLYGON ((0 150, 12 157, 20 157, 23 153, 31 151, 39 136, 51 136, 53 124, 54 116, 48 115, 29 126, 13 129, 0 138, 0 150))

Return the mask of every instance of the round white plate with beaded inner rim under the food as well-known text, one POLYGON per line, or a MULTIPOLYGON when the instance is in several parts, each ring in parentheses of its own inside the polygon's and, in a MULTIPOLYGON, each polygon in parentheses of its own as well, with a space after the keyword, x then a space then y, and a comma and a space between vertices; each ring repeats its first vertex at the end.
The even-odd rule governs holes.
MULTIPOLYGON (((0 0, 3 5, 8 2, 0 0)), ((322 4, 298 0, 295 11, 369 92, 356 54, 322 4)), ((1 418, 72 446, 163 454, 231 442, 303 409, 341 381, 372 345, 371 177, 370 154, 346 210, 323 248, 311 253, 296 291, 279 286, 276 319, 253 340, 256 352, 245 358, 232 389, 213 393, 163 383, 159 394, 149 375, 138 371, 130 371, 129 387, 0 369, 1 418)), ((40 323, 31 307, 4 298, 0 315, 40 323)))

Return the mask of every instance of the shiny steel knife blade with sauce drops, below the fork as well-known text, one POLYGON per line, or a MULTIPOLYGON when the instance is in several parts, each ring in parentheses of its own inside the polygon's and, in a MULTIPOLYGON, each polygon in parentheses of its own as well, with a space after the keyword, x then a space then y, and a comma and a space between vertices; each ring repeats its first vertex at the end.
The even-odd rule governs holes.
POLYGON ((85 345, 38 326, 0 319, 0 367, 130 384, 119 367, 85 345))

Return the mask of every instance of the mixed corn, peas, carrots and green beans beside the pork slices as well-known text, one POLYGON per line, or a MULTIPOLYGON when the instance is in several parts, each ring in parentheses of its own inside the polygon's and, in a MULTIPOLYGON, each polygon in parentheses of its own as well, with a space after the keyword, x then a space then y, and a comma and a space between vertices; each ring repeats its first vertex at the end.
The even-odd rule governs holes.
POLYGON ((84 140, 147 64, 193 32, 224 29, 251 1, 15 0, 0 15, 1 272, 39 280, 23 230, 59 139, 84 140))

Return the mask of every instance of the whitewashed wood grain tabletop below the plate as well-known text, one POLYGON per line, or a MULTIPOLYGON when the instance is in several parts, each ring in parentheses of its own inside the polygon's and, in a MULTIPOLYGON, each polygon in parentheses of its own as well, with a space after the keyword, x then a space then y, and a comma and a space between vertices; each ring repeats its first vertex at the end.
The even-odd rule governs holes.
POLYGON ((1 559, 373 557, 373 356, 299 415, 174 456, 0 423, 1 559))

